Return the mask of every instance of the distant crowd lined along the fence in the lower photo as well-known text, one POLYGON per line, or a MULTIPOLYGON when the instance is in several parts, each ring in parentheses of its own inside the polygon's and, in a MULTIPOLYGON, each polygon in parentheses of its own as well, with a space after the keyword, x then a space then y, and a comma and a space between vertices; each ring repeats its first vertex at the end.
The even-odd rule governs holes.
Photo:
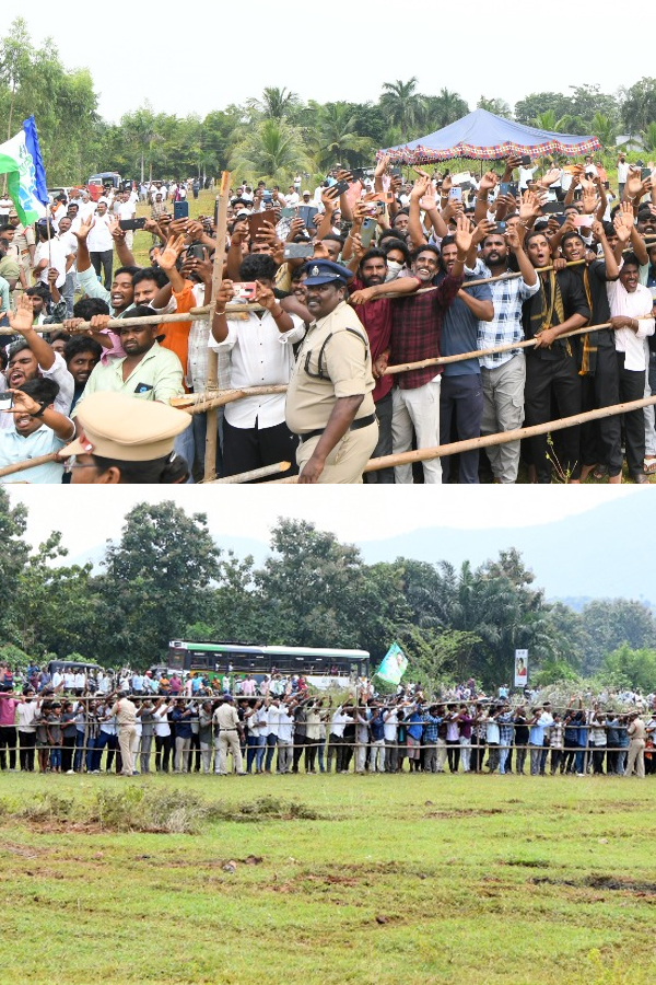
MULTIPOLYGON (((90 675, 0 670, 0 768, 124 775, 175 772, 656 773, 656 703, 618 710, 512 698, 426 698, 419 686, 348 697, 308 693, 304 675, 90 675), (229 756, 231 757, 229 762, 229 756), (408 770, 406 770, 408 763, 408 770)), ((466 685, 464 685, 466 686, 466 685)), ((468 690, 468 688, 467 688, 468 690)), ((502 688, 505 691, 506 688, 502 688)))

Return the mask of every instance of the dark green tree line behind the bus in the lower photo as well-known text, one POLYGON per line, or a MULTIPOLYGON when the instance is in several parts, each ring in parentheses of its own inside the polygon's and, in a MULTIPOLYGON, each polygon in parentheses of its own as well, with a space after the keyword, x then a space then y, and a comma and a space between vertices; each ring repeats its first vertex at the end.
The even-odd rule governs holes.
POLYGON ((0 490, 0 658, 19 663, 78 654, 145 669, 171 639, 214 639, 365 649, 375 667, 396 640, 409 676, 432 687, 470 675, 508 683, 515 649, 529 651, 535 683, 601 675, 656 685, 647 606, 596 600, 578 613, 550 603, 515 549, 476 568, 407 557, 367 565, 335 534, 280 519, 257 567, 213 541, 206 514, 140 503, 94 573, 63 561, 58 532, 31 551, 26 519, 0 490))

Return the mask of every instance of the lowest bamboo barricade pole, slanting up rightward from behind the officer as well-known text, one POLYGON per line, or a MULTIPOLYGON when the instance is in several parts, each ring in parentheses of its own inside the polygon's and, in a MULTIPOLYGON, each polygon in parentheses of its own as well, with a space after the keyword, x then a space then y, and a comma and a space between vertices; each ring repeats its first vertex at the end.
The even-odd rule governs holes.
MULTIPOLYGON (((611 407, 599 407, 598 410, 586 410, 575 414, 573 417, 561 417, 558 420, 549 420, 546 424, 534 425, 530 428, 516 428, 514 431, 500 431, 496 434, 485 434, 482 438, 469 438, 467 441, 454 441, 452 444, 438 444, 434 448, 421 448, 418 451, 399 452, 396 455, 383 455, 379 459, 370 459, 363 472, 377 472, 379 468, 390 468, 394 465, 412 465, 414 462, 427 462, 431 459, 442 459, 445 455, 455 455, 458 452, 473 451, 479 448, 490 448, 495 444, 507 444, 511 441, 520 441, 523 438, 536 438, 538 434, 547 434, 549 431, 562 431, 585 424, 588 420, 600 420, 604 417, 613 417, 616 414, 628 414, 631 410, 640 410, 643 407, 653 407, 656 396, 643 397, 640 401, 631 401, 626 404, 613 404, 611 407)), ((277 485, 291 485, 298 482, 298 476, 273 479, 277 485)))

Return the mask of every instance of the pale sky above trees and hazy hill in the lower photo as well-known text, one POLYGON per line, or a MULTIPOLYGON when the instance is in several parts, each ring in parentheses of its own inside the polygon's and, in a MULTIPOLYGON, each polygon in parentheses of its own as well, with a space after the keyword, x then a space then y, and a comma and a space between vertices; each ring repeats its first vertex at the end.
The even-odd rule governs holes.
MULTIPOLYGON (((69 556, 117 538, 138 502, 174 500, 188 514, 206 512, 211 533, 267 543, 279 517, 330 530, 342 542, 378 541, 426 528, 512 530, 584 513, 601 502, 645 494, 635 486, 4 486, 28 508, 27 540, 61 531, 69 556)), ((647 496, 649 494, 646 494, 647 496)), ((639 497, 636 499, 635 497, 639 497)), ((391 558, 390 558, 391 559, 391 558)))

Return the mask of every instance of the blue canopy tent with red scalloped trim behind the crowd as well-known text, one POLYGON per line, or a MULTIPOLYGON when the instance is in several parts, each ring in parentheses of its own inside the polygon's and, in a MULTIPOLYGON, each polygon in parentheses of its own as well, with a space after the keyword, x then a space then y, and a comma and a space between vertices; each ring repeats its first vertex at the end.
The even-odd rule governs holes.
POLYGON ((494 161, 511 154, 528 154, 530 158, 565 154, 573 158, 589 154, 599 148, 596 137, 551 134, 504 119, 487 109, 475 109, 435 134, 405 146, 380 150, 378 157, 388 154, 395 164, 431 164, 453 158, 494 161))

